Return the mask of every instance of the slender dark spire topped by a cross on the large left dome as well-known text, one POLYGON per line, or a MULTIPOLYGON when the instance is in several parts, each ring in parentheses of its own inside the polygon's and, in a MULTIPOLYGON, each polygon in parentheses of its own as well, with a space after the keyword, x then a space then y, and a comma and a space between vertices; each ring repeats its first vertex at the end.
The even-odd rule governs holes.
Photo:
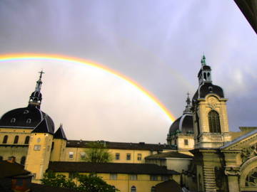
POLYGON ((42 75, 44 74, 44 71, 41 70, 39 75, 39 80, 36 81, 36 88, 35 91, 31 93, 31 96, 29 97, 29 105, 35 105, 37 108, 40 109, 41 100, 42 100, 42 94, 41 94, 41 85, 42 85, 42 75))

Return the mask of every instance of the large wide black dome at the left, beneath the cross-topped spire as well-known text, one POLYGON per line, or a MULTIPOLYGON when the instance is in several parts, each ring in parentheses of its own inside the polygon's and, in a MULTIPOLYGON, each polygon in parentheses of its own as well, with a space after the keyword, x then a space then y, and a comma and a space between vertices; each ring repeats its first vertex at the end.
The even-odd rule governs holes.
POLYGON ((6 112, 0 119, 0 127, 34 129, 43 119, 46 119, 50 132, 54 133, 54 121, 35 105, 6 112))

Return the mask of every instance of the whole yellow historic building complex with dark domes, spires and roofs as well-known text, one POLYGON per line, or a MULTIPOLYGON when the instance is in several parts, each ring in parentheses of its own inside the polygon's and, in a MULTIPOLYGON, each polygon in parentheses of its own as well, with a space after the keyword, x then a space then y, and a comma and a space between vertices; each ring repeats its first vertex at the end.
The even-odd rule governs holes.
POLYGON ((34 182, 51 170, 70 178, 94 172, 122 192, 169 191, 175 181, 184 191, 257 191, 257 127, 229 131, 228 99, 213 85, 204 55, 198 89, 171 124, 167 144, 97 141, 109 149, 111 163, 85 162, 91 141, 68 140, 62 125, 55 131, 54 121, 40 109, 42 74, 29 105, 0 119, 0 160, 15 156, 34 182))

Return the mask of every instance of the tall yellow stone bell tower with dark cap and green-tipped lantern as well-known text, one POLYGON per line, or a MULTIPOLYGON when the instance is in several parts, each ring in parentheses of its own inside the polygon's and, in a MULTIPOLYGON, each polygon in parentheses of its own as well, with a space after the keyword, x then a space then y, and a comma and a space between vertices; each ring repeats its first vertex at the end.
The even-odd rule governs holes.
POLYGON ((211 67, 206 57, 201 59, 198 73, 198 90, 193 96, 193 127, 195 149, 216 149, 229 142, 228 114, 223 89, 212 84, 211 67))

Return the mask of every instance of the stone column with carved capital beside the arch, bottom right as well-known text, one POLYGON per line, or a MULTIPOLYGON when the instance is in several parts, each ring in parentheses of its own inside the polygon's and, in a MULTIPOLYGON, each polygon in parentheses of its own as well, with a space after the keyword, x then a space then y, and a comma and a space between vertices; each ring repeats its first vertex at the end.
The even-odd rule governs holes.
POLYGON ((239 167, 227 166, 225 169, 225 174, 228 176, 228 191, 240 192, 238 184, 238 176, 240 176, 239 167))

